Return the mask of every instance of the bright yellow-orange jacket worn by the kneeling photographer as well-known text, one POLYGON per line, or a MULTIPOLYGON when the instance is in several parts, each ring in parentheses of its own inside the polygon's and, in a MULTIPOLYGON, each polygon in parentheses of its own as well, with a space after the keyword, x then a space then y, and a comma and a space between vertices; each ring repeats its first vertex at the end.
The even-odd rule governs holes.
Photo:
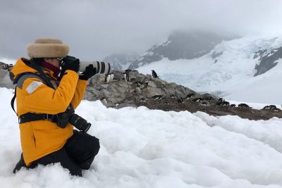
MULTIPOLYGON (((25 58, 20 58, 13 66, 11 75, 15 80, 21 73, 37 73, 37 70, 25 65, 25 58)), ((44 73, 56 83, 51 70, 44 69, 44 73)), ((56 84, 55 84, 56 85, 56 84)), ((79 80, 73 70, 66 70, 56 89, 47 87, 37 77, 27 77, 16 87, 16 104, 18 115, 25 113, 57 114, 66 111, 69 104, 76 108, 87 87, 87 80, 79 80)), ((66 144, 66 140, 73 135, 73 125, 65 128, 58 127, 50 120, 37 120, 20 124, 20 142, 23 158, 28 166, 32 161, 42 158, 49 153, 58 151, 66 144)))

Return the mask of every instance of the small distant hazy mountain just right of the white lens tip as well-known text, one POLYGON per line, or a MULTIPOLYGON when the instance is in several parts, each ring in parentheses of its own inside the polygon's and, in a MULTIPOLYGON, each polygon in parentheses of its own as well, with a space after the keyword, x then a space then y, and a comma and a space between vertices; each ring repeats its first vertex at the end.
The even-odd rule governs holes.
POLYGON ((113 54, 111 56, 106 56, 103 61, 111 63, 112 70, 126 70, 137 57, 137 54, 113 54))

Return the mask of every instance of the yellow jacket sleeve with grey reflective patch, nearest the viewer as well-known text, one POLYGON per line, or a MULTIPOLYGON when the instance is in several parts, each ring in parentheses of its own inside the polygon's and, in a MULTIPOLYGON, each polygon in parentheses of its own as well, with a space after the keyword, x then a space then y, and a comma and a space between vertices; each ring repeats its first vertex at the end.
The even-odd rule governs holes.
POLYGON ((21 106, 33 113, 56 114, 66 111, 73 99, 78 83, 78 74, 66 70, 59 86, 52 89, 37 78, 23 82, 21 106))

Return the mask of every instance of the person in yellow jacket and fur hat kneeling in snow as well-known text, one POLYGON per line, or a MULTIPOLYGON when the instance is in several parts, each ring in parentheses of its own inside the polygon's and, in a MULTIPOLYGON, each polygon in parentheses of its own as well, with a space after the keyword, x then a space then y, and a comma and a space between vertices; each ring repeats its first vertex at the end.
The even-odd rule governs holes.
POLYGON ((90 168, 99 151, 99 139, 87 134, 87 130, 75 130, 68 123, 69 116, 65 125, 58 123, 62 117, 66 120, 66 114, 70 115, 66 113, 69 108, 74 114, 87 80, 96 73, 88 65, 78 75, 80 60, 68 56, 68 51, 69 46, 60 39, 40 38, 27 45, 30 59, 19 58, 11 69, 23 150, 13 173, 23 167, 61 163, 71 175, 81 177, 82 169, 90 168))

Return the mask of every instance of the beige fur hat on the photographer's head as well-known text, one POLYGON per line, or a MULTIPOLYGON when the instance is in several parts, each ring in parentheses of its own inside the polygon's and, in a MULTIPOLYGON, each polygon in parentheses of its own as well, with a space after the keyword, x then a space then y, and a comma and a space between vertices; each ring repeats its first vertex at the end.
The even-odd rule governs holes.
POLYGON ((68 44, 60 39, 41 38, 27 45, 27 55, 30 58, 64 58, 68 56, 68 44))

